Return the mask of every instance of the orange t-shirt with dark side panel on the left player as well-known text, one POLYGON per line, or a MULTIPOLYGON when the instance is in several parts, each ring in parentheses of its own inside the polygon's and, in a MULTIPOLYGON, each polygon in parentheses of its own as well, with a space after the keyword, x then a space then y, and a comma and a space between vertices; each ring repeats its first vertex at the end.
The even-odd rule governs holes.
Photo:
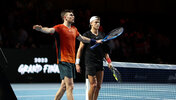
POLYGON ((76 37, 79 36, 77 28, 75 26, 68 28, 63 24, 53 28, 55 29, 53 35, 56 39, 57 63, 59 61, 75 63, 75 43, 76 37))

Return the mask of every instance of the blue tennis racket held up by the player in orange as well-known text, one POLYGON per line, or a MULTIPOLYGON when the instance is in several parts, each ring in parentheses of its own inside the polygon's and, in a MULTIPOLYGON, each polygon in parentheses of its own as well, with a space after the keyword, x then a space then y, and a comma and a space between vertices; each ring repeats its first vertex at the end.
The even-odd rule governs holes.
MULTIPOLYGON (((120 36, 122 33, 123 33, 123 27, 119 27, 119 28, 116 28, 112 31, 109 32, 109 35, 107 35, 103 40, 102 42, 106 42, 106 41, 109 41, 109 40, 112 40, 112 39, 115 39, 117 38, 118 36, 120 36)), ((99 46, 101 43, 97 43, 97 44, 94 44, 93 46, 91 46, 90 48, 91 49, 94 49, 95 47, 99 46)))

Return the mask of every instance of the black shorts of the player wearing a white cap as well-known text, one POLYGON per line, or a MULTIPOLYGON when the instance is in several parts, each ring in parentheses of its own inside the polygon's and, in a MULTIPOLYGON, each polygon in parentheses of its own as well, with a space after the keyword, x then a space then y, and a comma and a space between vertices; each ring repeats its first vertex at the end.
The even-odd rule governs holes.
POLYGON ((86 76, 95 76, 96 72, 103 71, 103 66, 86 66, 86 76))

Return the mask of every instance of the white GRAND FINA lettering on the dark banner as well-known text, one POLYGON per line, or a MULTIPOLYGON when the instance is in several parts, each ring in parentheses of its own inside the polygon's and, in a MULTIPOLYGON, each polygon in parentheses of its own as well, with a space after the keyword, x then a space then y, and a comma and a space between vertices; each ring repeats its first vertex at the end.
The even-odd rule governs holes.
POLYGON ((40 65, 40 64, 21 64, 18 68, 18 72, 23 75, 25 73, 39 73, 42 72, 43 73, 60 73, 58 65, 57 64, 53 64, 53 65, 49 65, 49 64, 45 64, 40 65))

